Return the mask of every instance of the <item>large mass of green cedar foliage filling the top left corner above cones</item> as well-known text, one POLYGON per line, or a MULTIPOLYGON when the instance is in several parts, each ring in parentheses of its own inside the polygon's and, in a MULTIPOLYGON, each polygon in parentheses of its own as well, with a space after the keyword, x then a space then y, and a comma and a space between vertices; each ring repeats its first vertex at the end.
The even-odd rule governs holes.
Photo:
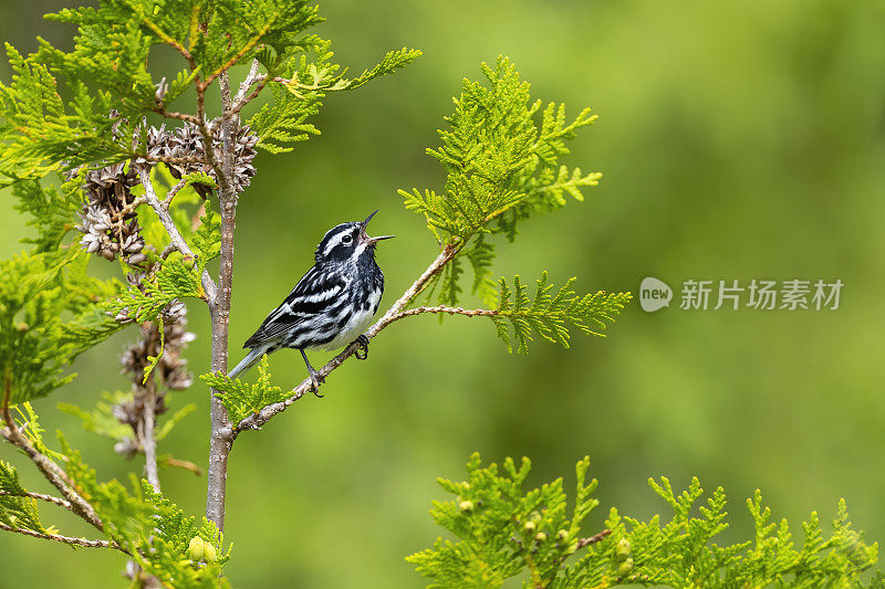
POLYGON ((65 9, 49 19, 76 27, 74 46, 63 51, 40 40, 23 56, 7 44, 14 73, 0 84, 0 183, 41 178, 82 164, 127 159, 142 117, 174 109, 185 91, 208 85, 231 66, 257 59, 273 85, 274 101, 248 123, 259 145, 271 151, 319 133, 305 119, 330 91, 358 87, 388 74, 420 53, 387 53, 356 78, 336 75, 330 43, 308 30, 322 21, 304 0, 105 0, 97 7, 65 9), (168 83, 148 67, 150 49, 168 45, 184 67, 168 83), (308 59, 309 56, 313 59, 308 59), (65 104, 56 77, 66 83, 65 104), (158 92, 164 87, 165 92, 158 92), (108 113, 116 112, 111 117, 108 113))

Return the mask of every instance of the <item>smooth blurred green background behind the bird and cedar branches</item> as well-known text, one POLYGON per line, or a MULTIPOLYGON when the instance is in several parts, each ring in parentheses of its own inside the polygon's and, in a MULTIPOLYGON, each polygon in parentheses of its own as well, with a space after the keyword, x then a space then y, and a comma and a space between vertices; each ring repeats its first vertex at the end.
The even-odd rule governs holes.
MULTIPOLYGON (((0 33, 23 51, 71 31, 40 15, 70 2, 0 4, 0 33)), ((427 514, 444 498, 437 476, 460 477, 472 451, 529 455, 532 483, 591 456, 602 506, 667 512, 647 488, 698 475, 731 498, 729 539, 749 537, 743 499, 760 487, 775 518, 829 518, 839 497, 867 539, 885 539, 885 4, 881 1, 325 2, 319 33, 352 70, 403 45, 424 57, 394 76, 332 96, 323 135, 281 157, 262 154, 238 218, 231 357, 312 263, 330 227, 381 208, 376 232, 391 303, 434 256, 421 220, 397 188, 438 188, 424 154, 450 113, 462 76, 513 59, 533 96, 592 106, 600 122, 565 161, 604 178, 584 203, 537 218, 496 271, 585 291, 633 291, 647 275, 676 292, 646 314, 635 302, 608 339, 572 349, 537 344, 509 356, 486 322, 417 317, 391 327, 367 362, 335 372, 322 400, 306 397, 230 461, 227 571, 237 587, 421 587, 403 557, 438 535, 427 514), (841 278, 839 311, 687 312, 687 278, 841 278)), ((9 80, 8 69, 3 81, 9 80)), ((242 75, 242 73, 240 73, 242 75)), ((28 232, 0 192, 0 255, 28 232)), ((96 260, 95 266, 101 262, 96 260)), ((204 308, 188 358, 208 367, 204 308)), ((126 387, 124 333, 83 356, 74 383, 37 403, 103 477, 138 472, 105 440, 79 429, 59 401, 91 406, 126 387)), ((313 354, 319 365, 325 358, 313 354)), ((272 357, 279 382, 304 377, 296 353, 272 357)), ((206 462, 208 399, 160 452, 206 462)), ((9 446, 0 457, 42 482, 9 446)), ((194 514, 205 478, 165 471, 164 492, 194 514)), ((445 497, 448 498, 448 497, 445 497)), ((50 517, 48 520, 53 522, 50 517)), ((59 515, 62 529, 85 534, 59 515)), ((0 535, 0 587, 105 587, 116 555, 0 535), (51 559, 49 559, 51 558, 51 559)), ((122 579, 119 579, 122 582, 122 579)))

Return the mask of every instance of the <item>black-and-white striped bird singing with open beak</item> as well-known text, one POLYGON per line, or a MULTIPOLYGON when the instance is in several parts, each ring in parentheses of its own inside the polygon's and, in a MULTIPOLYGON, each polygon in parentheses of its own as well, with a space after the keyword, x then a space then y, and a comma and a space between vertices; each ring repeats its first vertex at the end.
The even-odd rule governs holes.
POLYGON ((394 235, 371 238, 365 221, 330 229, 314 252, 313 266, 246 340, 246 358, 228 372, 236 377, 254 366, 264 354, 280 348, 301 351, 312 390, 317 397, 323 378, 311 366, 305 349, 334 350, 356 341, 356 357, 368 356, 364 332, 372 325, 384 294, 384 273, 375 262, 375 245, 394 235))

